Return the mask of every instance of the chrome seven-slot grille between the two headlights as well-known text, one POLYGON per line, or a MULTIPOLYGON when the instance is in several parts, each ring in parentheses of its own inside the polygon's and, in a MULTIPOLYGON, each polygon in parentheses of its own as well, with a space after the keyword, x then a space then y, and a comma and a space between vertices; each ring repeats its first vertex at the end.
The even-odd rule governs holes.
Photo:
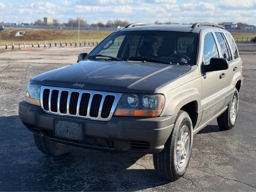
POLYGON ((44 112, 108 121, 122 93, 41 86, 40 101, 44 112))

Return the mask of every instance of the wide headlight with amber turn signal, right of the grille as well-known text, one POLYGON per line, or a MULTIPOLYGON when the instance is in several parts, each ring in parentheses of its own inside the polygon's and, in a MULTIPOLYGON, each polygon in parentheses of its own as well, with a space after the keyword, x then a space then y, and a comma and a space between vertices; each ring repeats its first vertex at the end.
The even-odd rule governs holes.
POLYGON ((164 95, 124 94, 115 116, 159 116, 164 108, 164 95))

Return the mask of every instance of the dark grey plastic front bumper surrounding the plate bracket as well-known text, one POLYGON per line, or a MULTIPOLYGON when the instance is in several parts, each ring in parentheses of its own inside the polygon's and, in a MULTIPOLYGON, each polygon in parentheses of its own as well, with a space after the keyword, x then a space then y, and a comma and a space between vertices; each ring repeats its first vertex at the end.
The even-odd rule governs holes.
POLYGON ((28 130, 59 143, 109 152, 145 154, 159 153, 163 150, 177 116, 177 114, 153 118, 113 116, 107 122, 94 121, 46 114, 41 107, 25 101, 19 103, 19 115, 28 130), (81 123, 83 140, 56 137, 53 134, 56 119, 81 123))

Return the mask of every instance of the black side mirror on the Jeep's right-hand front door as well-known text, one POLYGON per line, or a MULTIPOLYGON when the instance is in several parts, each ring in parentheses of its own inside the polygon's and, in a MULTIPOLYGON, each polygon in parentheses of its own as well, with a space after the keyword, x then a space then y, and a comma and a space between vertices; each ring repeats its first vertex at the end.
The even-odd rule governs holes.
POLYGON ((204 65, 204 72, 221 71, 228 69, 228 60, 224 58, 213 57, 209 65, 204 65))

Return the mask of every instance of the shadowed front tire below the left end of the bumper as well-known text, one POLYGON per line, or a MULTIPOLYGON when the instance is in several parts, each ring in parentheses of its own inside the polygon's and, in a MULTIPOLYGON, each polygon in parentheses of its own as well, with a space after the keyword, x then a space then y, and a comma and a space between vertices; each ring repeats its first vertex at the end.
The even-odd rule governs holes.
POLYGON ((49 140, 46 137, 34 134, 34 140, 36 147, 44 154, 50 156, 60 156, 68 153, 72 146, 57 143, 55 141, 49 140))

